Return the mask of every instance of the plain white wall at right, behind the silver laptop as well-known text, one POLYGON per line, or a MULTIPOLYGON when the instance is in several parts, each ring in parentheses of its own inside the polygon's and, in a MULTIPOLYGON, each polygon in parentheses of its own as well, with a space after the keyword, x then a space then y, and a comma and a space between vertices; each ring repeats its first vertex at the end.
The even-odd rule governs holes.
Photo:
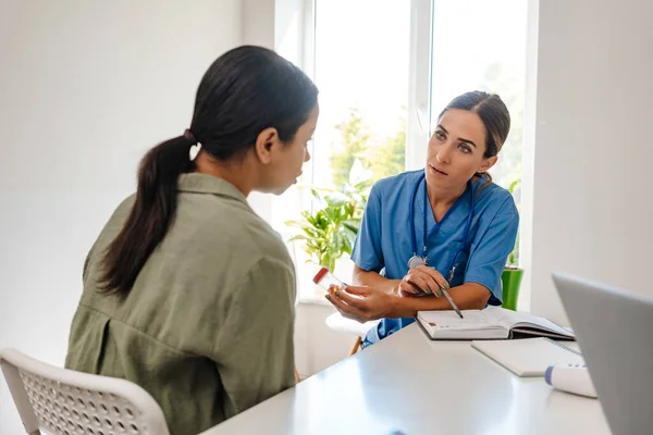
POLYGON ((653 2, 540 2, 532 311, 567 271, 653 295, 653 2))

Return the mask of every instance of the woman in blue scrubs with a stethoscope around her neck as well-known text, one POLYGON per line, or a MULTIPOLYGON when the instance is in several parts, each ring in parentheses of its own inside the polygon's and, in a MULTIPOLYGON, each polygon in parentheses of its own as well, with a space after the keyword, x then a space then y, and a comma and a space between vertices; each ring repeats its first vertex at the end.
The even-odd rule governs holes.
POLYGON ((374 184, 352 260, 354 284, 326 298, 349 319, 382 319, 365 345, 415 322, 417 311, 502 303, 501 274, 515 246, 513 196, 492 183, 510 115, 496 95, 455 98, 440 114, 426 167, 374 184))

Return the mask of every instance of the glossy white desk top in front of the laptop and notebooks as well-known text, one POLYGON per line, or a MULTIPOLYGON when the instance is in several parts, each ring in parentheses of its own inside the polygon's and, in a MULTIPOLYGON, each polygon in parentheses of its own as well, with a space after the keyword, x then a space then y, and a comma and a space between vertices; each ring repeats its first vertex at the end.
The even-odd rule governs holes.
POLYGON ((221 434, 609 434, 596 399, 410 325, 219 424, 221 434))

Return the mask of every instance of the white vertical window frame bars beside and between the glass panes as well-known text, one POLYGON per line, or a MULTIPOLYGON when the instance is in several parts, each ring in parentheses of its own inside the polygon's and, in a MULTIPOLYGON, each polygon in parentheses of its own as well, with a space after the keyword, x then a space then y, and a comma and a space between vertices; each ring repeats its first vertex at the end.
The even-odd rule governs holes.
MULTIPOLYGON (((293 0, 276 0, 293 1, 293 0)), ((300 1, 301 18, 298 37, 301 38, 301 59, 296 62, 309 77, 316 77, 316 16, 318 0, 300 1)), ((410 0, 410 45, 408 65, 408 107, 406 117, 406 167, 419 170, 427 158, 427 144, 431 126, 431 79, 432 79, 432 37, 433 11, 438 0, 410 0)), ((537 71, 538 71, 538 23, 539 0, 527 0, 527 64, 525 89, 525 119, 522 141, 521 174, 521 216, 520 216, 520 264, 525 269, 525 279, 520 291, 520 309, 530 310, 530 273, 532 264, 532 191, 534 166, 537 71)), ((313 154, 315 144, 310 144, 313 154)), ((315 160, 309 167, 310 182, 313 181, 315 160)), ((310 207, 312 208, 312 201, 310 207)))

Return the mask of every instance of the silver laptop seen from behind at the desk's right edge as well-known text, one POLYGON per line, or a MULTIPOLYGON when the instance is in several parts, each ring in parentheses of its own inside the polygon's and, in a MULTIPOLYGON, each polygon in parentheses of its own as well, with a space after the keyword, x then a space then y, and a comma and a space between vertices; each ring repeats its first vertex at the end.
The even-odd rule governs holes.
POLYGON ((615 435, 653 434, 653 298, 554 273, 615 435))

